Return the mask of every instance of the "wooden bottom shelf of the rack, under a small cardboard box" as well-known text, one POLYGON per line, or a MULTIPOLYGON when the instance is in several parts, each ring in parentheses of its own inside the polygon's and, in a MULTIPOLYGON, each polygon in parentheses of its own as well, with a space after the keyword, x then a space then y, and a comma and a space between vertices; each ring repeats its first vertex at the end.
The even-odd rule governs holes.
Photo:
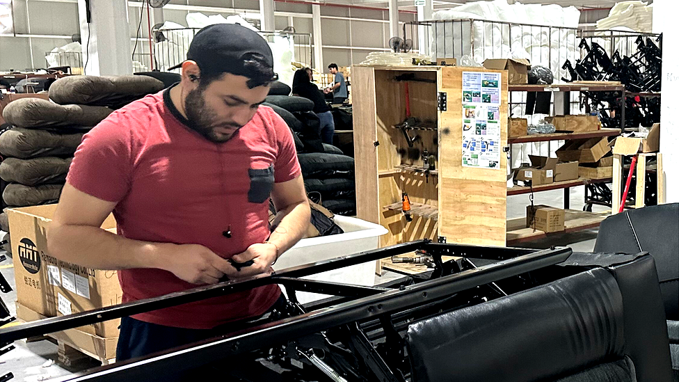
POLYGON ((548 237, 553 234, 563 234, 568 232, 577 232, 589 228, 598 227, 598 225, 609 216, 609 212, 584 212, 575 209, 566 209, 565 214, 565 230, 561 232, 554 232, 546 234, 545 232, 526 228, 526 218, 515 218, 507 221, 507 244, 512 245, 522 241, 531 241, 548 237))

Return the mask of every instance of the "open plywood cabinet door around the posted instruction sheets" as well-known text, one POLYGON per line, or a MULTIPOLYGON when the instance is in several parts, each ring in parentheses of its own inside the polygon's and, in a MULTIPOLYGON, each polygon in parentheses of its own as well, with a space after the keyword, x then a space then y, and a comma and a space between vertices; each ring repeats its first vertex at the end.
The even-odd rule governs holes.
POLYGON ((462 166, 462 72, 502 73, 500 146, 507 144, 507 72, 470 67, 442 67, 439 91, 447 93, 447 111, 439 117, 439 217, 448 243, 504 246, 506 241, 506 155, 500 168, 462 166))

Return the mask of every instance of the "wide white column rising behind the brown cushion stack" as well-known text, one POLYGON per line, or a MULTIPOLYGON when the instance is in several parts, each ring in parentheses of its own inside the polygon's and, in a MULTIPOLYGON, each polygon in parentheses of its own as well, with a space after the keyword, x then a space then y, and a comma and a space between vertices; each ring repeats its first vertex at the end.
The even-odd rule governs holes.
POLYGON ((78 0, 78 13, 85 73, 132 74, 127 1, 78 0))

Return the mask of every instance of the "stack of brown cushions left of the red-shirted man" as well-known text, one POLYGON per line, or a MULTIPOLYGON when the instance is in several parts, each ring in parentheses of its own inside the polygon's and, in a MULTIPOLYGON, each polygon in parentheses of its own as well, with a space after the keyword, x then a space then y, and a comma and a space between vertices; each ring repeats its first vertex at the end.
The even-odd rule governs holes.
MULTIPOLYGON (((83 134, 113 109, 157 93, 163 83, 152 77, 72 76, 49 89, 52 101, 22 98, 10 102, 3 118, 11 125, 0 132, 0 179, 3 202, 27 207, 56 202, 73 154, 83 134)), ((8 231, 6 216, 0 228, 8 231)))

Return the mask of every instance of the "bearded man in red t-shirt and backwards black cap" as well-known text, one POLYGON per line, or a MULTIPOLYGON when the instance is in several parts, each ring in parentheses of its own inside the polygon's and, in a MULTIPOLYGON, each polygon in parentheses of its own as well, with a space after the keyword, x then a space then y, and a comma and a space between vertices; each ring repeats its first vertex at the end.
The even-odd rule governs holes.
MULTIPOLYGON (((51 255, 118 269, 123 302, 269 272, 310 221, 290 129, 259 106, 275 80, 266 41, 207 26, 181 67, 84 136, 48 232, 51 255), (271 235, 269 196, 284 214, 271 235), (99 228, 111 212, 118 235, 99 228)), ((280 302, 273 285, 125 317, 117 358, 228 333, 280 302)))

